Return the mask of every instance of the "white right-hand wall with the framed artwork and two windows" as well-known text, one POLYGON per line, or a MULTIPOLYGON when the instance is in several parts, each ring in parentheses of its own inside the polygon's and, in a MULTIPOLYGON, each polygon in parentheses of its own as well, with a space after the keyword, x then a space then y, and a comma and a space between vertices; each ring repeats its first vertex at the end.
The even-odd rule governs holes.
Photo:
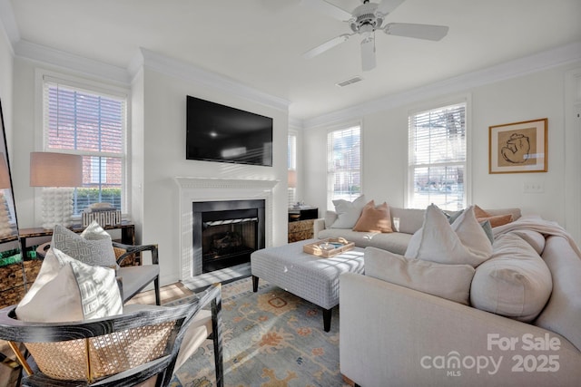
MULTIPOLYGON (((567 72, 580 65, 578 62, 562 65, 453 94, 431 92, 430 98, 419 96, 417 102, 360 116, 363 192, 368 198, 403 207, 409 111, 467 96, 472 202, 482 208, 519 207, 524 214, 539 214, 565 224, 565 79, 567 72), (488 174, 488 127, 545 117, 548 118, 548 172, 488 174), (542 184, 544 192, 524 193, 524 184, 528 182, 542 184)), ((304 179, 305 200, 321 209, 326 208, 327 131, 324 124, 307 128, 303 142, 305 164, 310 166, 304 179)))

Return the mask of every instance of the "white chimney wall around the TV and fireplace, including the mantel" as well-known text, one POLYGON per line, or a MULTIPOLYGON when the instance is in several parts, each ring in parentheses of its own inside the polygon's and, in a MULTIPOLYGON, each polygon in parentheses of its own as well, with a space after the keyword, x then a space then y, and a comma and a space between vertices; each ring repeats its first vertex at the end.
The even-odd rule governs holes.
MULTIPOLYGON (((179 190, 175 177, 281 180, 273 190, 273 246, 287 240, 286 144, 288 113, 182 77, 144 68, 143 232, 160 246, 162 282, 179 273, 179 190), (185 159, 186 95, 273 118, 273 167, 185 159)), ((135 174, 135 177, 139 174, 135 174)), ((137 181, 134 185, 139 185, 137 181)), ((136 208, 133 206, 134 210, 136 208)), ((138 216, 137 214, 135 214, 138 216)))

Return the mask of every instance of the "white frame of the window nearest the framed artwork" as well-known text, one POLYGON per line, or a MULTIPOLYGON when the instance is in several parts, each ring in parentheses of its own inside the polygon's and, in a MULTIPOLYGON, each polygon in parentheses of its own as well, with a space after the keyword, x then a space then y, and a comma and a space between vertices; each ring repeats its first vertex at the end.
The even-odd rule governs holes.
MULTIPOLYGON (((415 181, 412 170, 415 164, 411 163, 411 141, 410 141, 410 130, 411 121, 413 117, 419 113, 427 111, 436 111, 438 109, 443 109, 448 106, 464 104, 465 113, 465 138, 466 138, 466 157, 464 160, 464 198, 462 203, 462 208, 466 208, 468 203, 472 202, 472 124, 471 124, 471 95, 462 94, 455 97, 451 97, 446 100, 439 100, 436 102, 429 102, 417 106, 408 111, 408 157, 406 159, 406 178, 405 178, 405 192, 404 192, 404 208, 411 208, 413 204, 413 196, 415 189, 415 181)), ((458 164, 458 162, 450 162, 451 164, 458 164)))

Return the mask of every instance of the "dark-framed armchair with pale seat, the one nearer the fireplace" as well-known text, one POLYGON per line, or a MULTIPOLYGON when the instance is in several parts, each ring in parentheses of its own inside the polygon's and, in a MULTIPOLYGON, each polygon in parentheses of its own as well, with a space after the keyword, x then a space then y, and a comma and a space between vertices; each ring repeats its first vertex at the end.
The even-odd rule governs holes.
MULTIPOLYGON (((155 305, 161 305, 160 298, 160 267, 157 245, 124 245, 112 241, 113 252, 117 265, 117 276, 122 279, 123 304, 138 294, 143 288, 153 281, 155 289, 155 305), (149 251, 152 256, 152 265, 143 265, 143 256, 137 259, 137 255, 149 251)), ((44 258, 46 252, 51 247, 50 242, 46 242, 36 247, 36 256, 44 258)))

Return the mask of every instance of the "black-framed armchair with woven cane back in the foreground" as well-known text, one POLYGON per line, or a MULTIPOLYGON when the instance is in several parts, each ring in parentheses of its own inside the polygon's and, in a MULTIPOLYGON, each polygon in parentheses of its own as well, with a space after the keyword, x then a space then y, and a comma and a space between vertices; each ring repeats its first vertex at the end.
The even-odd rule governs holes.
POLYGON ((173 371, 211 334, 222 387, 221 310, 220 284, 183 305, 128 305, 120 315, 64 324, 16 320, 12 305, 0 310, 0 339, 25 368, 23 386, 159 387, 169 385, 173 371), (202 310, 206 305, 211 313, 202 310))

